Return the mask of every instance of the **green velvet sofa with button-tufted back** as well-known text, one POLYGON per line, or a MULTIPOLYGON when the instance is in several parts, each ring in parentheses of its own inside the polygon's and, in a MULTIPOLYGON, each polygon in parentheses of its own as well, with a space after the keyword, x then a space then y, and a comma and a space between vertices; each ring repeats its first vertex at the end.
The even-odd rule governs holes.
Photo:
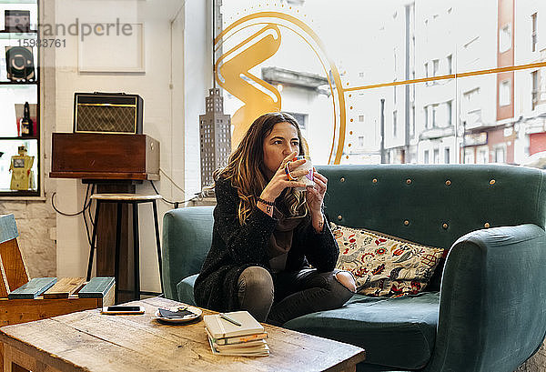
MULTIPOLYGON (((342 308, 284 327, 365 348, 359 371, 511 372, 541 346, 545 173, 493 165, 318 168, 329 178, 329 220, 450 253, 420 295, 355 295, 342 308)), ((187 207, 164 216, 166 297, 193 303, 212 210, 187 207)))

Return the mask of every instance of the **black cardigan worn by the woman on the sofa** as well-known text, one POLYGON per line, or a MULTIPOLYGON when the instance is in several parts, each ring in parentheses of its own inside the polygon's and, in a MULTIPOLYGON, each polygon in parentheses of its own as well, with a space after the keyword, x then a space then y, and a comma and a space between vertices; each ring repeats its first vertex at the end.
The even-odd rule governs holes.
MULTIPOLYGON (((277 219, 255 207, 247 224, 240 226, 236 188, 229 180, 219 179, 215 191, 217 206, 212 245, 197 276, 194 296, 199 307, 234 311, 238 310, 238 277, 243 270, 248 266, 262 266, 271 272, 267 247, 277 219)), ((318 234, 307 218, 294 230, 286 270, 299 270, 309 263, 321 272, 332 271, 338 255, 339 247, 329 224, 325 221, 318 234)))

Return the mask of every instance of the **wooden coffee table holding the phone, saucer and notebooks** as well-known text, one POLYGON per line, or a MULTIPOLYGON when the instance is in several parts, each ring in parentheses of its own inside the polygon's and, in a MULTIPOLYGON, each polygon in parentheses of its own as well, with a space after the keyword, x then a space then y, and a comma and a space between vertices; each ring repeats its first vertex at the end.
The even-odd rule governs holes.
POLYGON ((152 319, 157 307, 179 303, 155 297, 130 304, 146 313, 86 310, 0 328, 4 371, 354 371, 365 358, 360 347, 269 325, 269 357, 216 356, 202 320, 171 326, 152 319))

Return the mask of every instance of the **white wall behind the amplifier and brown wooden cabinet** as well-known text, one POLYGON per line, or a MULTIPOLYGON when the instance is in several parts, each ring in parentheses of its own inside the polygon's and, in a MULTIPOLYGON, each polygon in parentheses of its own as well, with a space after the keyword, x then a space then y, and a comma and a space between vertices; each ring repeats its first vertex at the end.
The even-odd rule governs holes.
MULTIPOLYGON (((204 112, 209 87, 210 45, 208 2, 161 0, 57 0, 56 24, 142 23, 146 55, 144 73, 80 73, 77 37, 66 35, 66 47, 56 51, 56 131, 72 131, 74 92, 126 92, 145 101, 144 133, 161 146, 162 173, 155 184, 169 200, 181 201, 199 189, 197 118, 204 112), (186 3, 186 4, 185 4, 186 3), (190 175, 190 176, 188 176, 190 175)), ((108 37, 104 37, 107 46, 108 37)), ((96 54, 101 49, 97 48, 96 54)), ((57 181, 58 207, 64 211, 81 209, 86 186, 79 180, 57 181)), ((136 186, 137 194, 154 194, 148 182, 136 186)), ((158 205, 160 228, 164 213, 172 208, 158 205)), ((140 206, 141 287, 160 288, 151 206, 140 206)), ((85 276, 89 246, 81 216, 57 215, 57 276, 85 276)))

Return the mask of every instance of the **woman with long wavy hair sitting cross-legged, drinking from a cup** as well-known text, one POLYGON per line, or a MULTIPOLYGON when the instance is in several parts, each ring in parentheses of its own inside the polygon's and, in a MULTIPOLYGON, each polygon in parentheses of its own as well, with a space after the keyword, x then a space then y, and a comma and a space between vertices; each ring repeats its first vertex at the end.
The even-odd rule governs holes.
POLYGON ((294 317, 343 306, 355 291, 335 270, 338 245, 322 214, 328 180, 293 179, 305 159, 298 122, 284 113, 258 117, 225 168, 215 174, 212 246, 197 277, 197 305, 248 310, 282 325, 294 317), (290 180, 292 179, 292 180, 290 180), (313 267, 309 267, 308 264, 313 267))

